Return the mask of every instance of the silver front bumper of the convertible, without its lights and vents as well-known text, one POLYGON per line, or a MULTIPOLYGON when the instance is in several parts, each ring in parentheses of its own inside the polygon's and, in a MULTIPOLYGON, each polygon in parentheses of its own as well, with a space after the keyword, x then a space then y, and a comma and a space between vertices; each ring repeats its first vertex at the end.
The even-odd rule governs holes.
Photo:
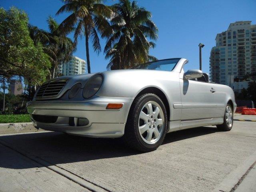
POLYGON ((58 116, 56 122, 45 123, 34 120, 33 125, 44 130, 66 132, 88 137, 117 138, 124 134, 124 127, 134 98, 95 97, 87 101, 32 101, 28 113, 58 116), (106 110, 108 103, 122 103, 120 110, 106 110), (70 118, 87 118, 86 126, 70 126, 70 118))

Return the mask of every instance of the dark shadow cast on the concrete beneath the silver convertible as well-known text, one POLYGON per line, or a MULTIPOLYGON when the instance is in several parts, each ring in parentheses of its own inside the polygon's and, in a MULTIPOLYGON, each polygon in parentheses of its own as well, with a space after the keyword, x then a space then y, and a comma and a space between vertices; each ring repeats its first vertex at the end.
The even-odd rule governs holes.
MULTIPOLYGON (((215 127, 199 127, 168 133, 162 145, 216 131, 215 127)), ((86 138, 58 132, 0 136, 0 144, 4 144, 9 151, 0 150, 0 167, 12 169, 40 166, 24 164, 24 158, 22 160, 18 153, 33 155, 53 165, 140 154, 126 147, 121 139, 86 138)))

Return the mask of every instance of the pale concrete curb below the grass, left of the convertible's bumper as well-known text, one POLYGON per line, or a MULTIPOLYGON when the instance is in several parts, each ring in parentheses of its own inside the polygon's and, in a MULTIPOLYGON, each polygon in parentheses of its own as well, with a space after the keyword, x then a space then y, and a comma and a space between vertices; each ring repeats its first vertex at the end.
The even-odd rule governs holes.
POLYGON ((10 133, 24 133, 24 132, 38 132, 43 131, 42 129, 36 129, 32 122, 27 123, 1 123, 0 134, 10 133))

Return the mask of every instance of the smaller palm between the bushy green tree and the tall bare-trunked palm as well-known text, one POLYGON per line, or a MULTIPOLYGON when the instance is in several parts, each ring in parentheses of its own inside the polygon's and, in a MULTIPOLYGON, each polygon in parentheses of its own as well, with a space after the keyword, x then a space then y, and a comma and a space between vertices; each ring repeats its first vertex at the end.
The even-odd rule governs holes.
POLYGON ((54 78, 58 70, 58 65, 65 60, 69 60, 75 46, 72 40, 60 33, 59 24, 51 16, 47 19, 49 32, 39 29, 36 26, 29 26, 30 36, 34 43, 41 43, 44 46, 44 52, 48 54, 52 63, 50 78, 54 78))

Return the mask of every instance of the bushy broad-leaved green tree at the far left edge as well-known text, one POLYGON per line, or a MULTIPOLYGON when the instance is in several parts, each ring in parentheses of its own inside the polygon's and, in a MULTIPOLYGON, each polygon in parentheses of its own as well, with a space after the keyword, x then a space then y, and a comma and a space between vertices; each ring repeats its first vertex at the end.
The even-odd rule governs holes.
POLYGON ((23 76, 36 85, 46 79, 49 67, 42 44, 35 45, 30 38, 26 13, 0 8, 0 76, 23 76))

